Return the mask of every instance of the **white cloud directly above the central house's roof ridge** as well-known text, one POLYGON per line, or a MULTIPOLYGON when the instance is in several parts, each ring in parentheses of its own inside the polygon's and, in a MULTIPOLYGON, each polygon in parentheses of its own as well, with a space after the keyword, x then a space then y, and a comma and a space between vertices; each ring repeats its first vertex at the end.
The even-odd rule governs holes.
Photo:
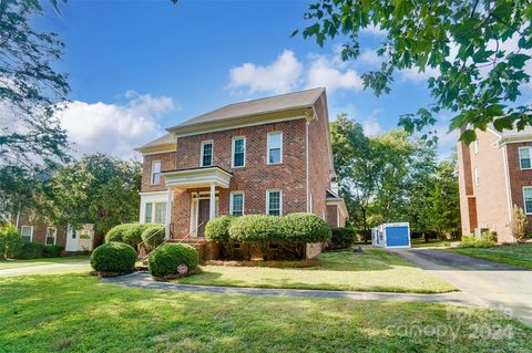
POLYGON ((285 50, 268 65, 245 63, 229 71, 229 90, 247 89, 249 94, 256 92, 284 93, 297 87, 303 64, 295 53, 285 50))

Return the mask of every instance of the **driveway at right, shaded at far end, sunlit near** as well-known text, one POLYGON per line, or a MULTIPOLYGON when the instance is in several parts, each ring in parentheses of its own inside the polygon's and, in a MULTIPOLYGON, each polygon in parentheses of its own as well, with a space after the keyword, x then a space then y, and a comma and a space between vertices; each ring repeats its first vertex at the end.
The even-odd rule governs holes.
POLYGON ((442 250, 390 251, 532 325, 532 271, 442 250))

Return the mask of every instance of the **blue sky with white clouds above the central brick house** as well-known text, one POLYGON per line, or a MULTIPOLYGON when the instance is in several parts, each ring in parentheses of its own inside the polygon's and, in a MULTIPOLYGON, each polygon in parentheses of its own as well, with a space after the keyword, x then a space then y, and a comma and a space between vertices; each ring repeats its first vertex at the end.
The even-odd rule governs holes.
MULTIPOLYGON (((346 112, 368 134, 430 102, 427 75, 413 71, 399 73, 389 95, 361 89, 361 73, 378 65, 378 30, 362 33, 361 59, 348 63, 339 60, 341 40, 319 48, 289 38, 308 24, 307 4, 70 0, 62 17, 38 18, 66 45, 58 69, 70 74, 72 103, 61 120, 76 153, 130 157, 165 127, 221 105, 318 85, 328 90, 330 120, 346 112)), ((442 143, 447 154, 453 136, 442 143)))

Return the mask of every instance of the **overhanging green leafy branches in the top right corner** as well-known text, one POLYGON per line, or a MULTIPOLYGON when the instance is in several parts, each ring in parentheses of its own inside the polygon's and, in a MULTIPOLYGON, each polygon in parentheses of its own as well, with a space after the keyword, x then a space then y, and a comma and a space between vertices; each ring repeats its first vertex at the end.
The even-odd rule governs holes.
MULTIPOLYGON (((362 75, 376 95, 390 92, 398 70, 428 68, 433 104, 400 117, 408 132, 421 132, 446 110, 454 113, 450 129, 474 141, 474 129, 523 129, 532 124, 530 106, 519 103, 520 90, 530 81, 532 3, 528 0, 320 0, 305 19, 314 22, 304 38, 319 45, 341 37, 342 60, 360 54, 358 34, 376 27, 386 32, 377 53, 380 70, 362 75)), ((297 31, 294 33, 294 35, 297 31)), ((436 139, 434 132, 429 135, 436 139)), ((427 137, 430 137, 430 136, 427 137)))

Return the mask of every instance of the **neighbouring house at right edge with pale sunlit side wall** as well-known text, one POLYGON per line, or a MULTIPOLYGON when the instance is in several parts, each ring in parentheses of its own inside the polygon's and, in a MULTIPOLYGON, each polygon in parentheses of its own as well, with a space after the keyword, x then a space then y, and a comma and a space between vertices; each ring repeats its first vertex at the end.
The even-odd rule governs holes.
POLYGON ((513 242, 512 208, 532 222, 532 128, 477 132, 470 146, 458 144, 462 233, 490 230, 513 242))

